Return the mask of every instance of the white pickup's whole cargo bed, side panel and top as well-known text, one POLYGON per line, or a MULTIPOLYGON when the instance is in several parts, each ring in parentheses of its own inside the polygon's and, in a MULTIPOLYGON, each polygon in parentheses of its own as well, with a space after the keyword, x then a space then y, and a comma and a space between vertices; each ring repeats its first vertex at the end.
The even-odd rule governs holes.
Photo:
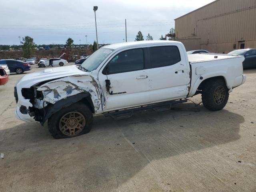
POLYGON ((188 54, 191 68, 191 87, 188 96, 193 96, 200 83, 212 76, 223 77, 227 88, 239 86, 245 81, 243 76, 244 56, 227 54, 188 54))

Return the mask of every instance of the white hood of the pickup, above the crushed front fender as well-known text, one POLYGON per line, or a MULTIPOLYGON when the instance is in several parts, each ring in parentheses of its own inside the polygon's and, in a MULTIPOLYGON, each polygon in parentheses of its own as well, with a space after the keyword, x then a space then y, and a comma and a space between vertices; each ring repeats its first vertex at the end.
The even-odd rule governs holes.
POLYGON ((16 84, 22 88, 30 88, 31 86, 43 81, 63 78, 73 75, 89 75, 90 73, 79 70, 75 65, 62 66, 55 68, 46 68, 42 71, 34 72, 23 76, 16 84))

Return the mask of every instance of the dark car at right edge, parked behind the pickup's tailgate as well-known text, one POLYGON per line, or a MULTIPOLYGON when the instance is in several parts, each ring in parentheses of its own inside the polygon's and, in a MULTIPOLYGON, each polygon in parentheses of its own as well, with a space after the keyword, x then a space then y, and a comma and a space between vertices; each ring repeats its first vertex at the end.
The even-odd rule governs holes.
POLYGON ((243 68, 256 67, 256 49, 238 49, 228 54, 244 56, 243 68))

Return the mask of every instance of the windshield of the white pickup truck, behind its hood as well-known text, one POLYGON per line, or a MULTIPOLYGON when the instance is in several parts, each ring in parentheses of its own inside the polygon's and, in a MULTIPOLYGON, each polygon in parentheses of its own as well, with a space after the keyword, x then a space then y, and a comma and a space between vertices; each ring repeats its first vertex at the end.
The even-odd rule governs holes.
POLYGON ((93 71, 102 63, 102 61, 113 51, 113 49, 100 48, 90 55, 81 66, 88 71, 93 71))

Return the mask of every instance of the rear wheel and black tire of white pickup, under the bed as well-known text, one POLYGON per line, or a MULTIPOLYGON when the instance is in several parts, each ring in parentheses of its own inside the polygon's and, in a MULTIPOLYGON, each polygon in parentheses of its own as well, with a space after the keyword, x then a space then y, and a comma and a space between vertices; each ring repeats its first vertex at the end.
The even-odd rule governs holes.
POLYGON ((218 111, 226 106, 228 96, 228 88, 224 80, 210 80, 204 85, 202 102, 205 108, 212 111, 218 111))

